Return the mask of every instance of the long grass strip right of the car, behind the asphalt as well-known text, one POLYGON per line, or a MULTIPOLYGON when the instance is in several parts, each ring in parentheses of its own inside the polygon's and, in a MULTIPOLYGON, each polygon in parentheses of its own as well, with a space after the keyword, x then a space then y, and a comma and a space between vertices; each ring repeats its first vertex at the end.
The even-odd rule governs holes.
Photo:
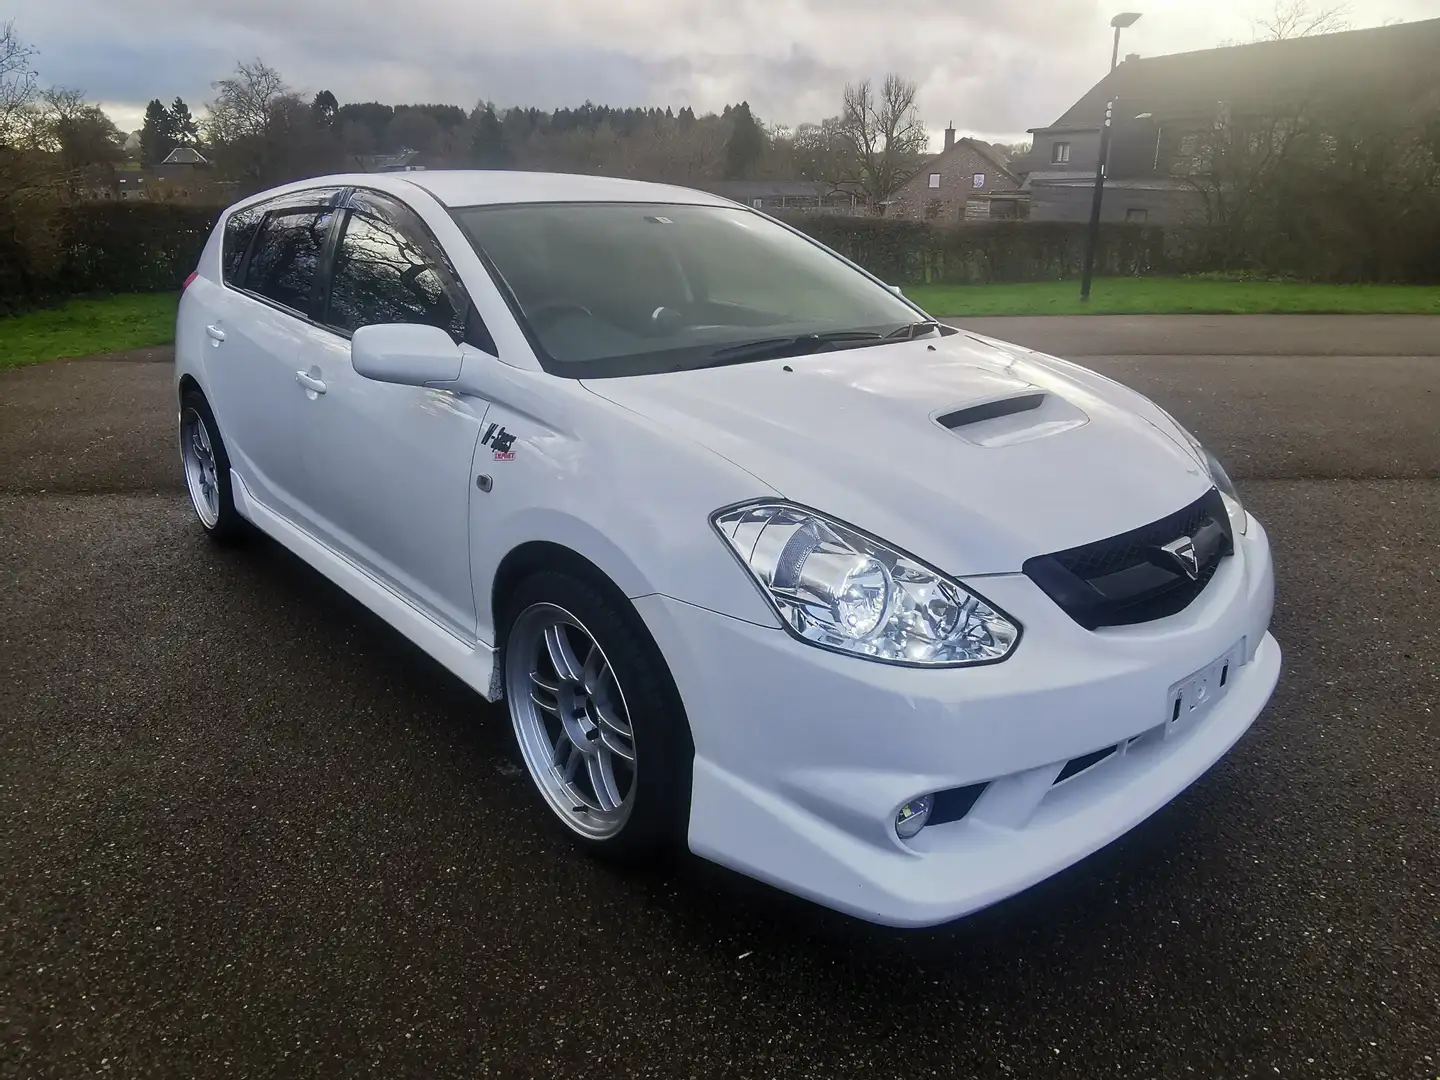
POLYGON ((1021 285, 906 285, 932 315, 1440 315, 1440 287, 1305 285, 1207 278, 1097 278, 1021 285))

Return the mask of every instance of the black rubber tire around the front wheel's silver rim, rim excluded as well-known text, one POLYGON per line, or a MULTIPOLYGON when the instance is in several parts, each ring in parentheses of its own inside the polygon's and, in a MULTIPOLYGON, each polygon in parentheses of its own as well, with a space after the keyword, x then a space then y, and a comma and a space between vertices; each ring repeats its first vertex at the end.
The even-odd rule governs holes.
POLYGON ((507 638, 520 613, 537 603, 563 608, 585 624, 615 671, 635 733, 635 802, 624 828, 593 840, 575 832, 553 811, 552 818, 582 847, 618 861, 649 861, 678 848, 690 824, 694 743, 680 691, 654 638, 618 589, 566 572, 541 572, 520 582, 504 606, 507 638))

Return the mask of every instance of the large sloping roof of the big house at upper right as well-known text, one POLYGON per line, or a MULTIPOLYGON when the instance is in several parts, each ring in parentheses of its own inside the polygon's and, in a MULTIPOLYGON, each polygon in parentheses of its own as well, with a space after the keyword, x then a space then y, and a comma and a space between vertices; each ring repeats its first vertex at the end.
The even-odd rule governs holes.
POLYGON ((1129 112, 1208 117, 1218 104, 1270 111, 1318 98, 1411 99, 1440 82, 1440 19, 1128 59, 1056 120, 1031 131, 1094 131, 1115 98, 1129 112))

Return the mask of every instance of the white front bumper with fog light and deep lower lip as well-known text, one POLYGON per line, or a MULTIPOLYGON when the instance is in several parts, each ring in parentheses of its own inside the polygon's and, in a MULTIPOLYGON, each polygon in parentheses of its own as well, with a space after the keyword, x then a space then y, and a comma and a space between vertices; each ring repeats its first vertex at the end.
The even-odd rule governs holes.
MULTIPOLYGON (((1139 626, 1086 631, 1022 575, 968 583, 1025 628, 1001 664, 891 667, 638 599, 694 734, 691 850, 871 922, 946 922, 1164 806, 1244 734, 1279 678, 1274 573, 1253 518, 1194 603, 1139 626), (1171 723, 1171 688, 1237 647, 1224 694, 1171 723), (1112 746, 1056 783, 1066 762, 1112 746), (906 802, 982 782, 962 819, 896 837, 906 802)), ((737 575, 736 588, 750 586, 737 575)))

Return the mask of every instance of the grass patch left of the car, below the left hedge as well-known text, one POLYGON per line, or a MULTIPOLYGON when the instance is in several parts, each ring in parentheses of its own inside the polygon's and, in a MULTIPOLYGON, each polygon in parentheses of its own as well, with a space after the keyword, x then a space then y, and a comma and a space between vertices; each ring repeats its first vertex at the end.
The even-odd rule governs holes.
POLYGON ((0 369, 170 344, 177 302, 174 292, 135 292, 0 318, 0 369))

